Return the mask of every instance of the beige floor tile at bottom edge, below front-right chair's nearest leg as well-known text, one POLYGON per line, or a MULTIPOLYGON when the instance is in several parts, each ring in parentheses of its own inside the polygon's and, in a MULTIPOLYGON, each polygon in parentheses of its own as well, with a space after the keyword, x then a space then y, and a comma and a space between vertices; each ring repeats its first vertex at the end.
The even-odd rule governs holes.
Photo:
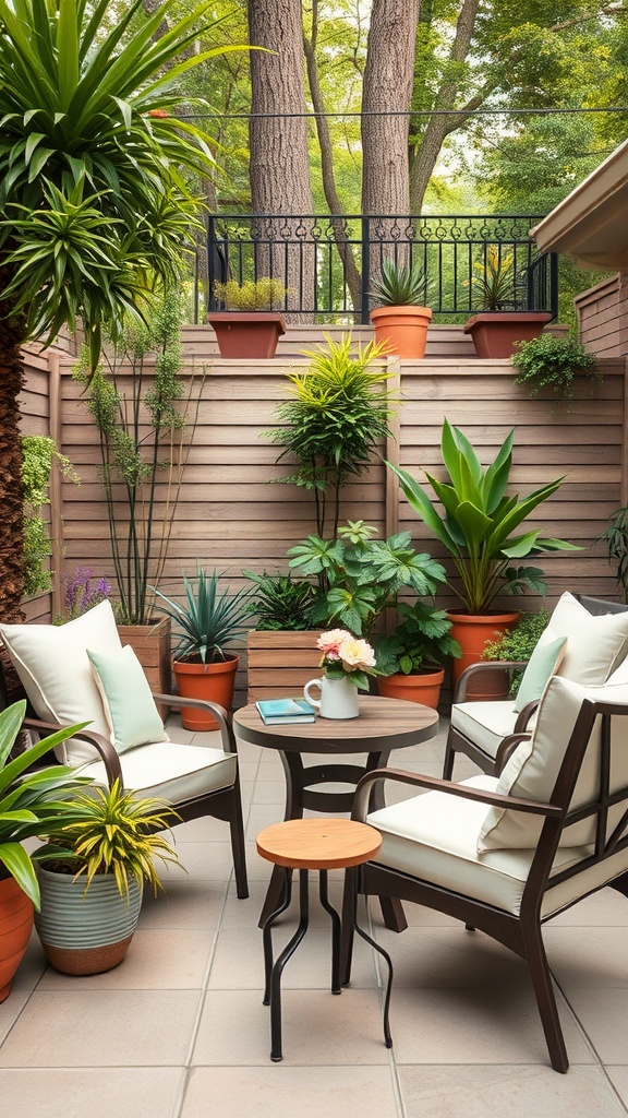
POLYGON ((405 1118, 624 1118, 600 1068, 400 1068, 405 1118))

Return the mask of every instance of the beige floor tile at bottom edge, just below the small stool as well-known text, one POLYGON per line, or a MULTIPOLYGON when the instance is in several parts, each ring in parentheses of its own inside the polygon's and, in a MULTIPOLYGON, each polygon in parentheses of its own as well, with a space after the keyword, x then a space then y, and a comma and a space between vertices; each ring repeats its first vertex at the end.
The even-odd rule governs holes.
MULTIPOLYGON (((181 1118, 397 1118, 389 1068, 196 1068, 181 1118)), ((426 1118, 426 1116, 424 1116, 426 1118)))

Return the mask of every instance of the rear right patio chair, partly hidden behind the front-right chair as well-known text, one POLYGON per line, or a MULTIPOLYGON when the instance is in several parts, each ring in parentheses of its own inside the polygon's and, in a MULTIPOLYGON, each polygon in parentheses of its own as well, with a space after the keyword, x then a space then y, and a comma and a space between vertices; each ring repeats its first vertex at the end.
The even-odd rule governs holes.
POLYGON ((628 606, 583 595, 563 594, 533 657, 473 664, 462 674, 451 705, 443 778, 450 780, 456 754, 465 754, 492 776, 501 742, 511 733, 530 733, 539 699, 553 671, 577 683, 606 683, 613 672, 628 682, 628 606), (621 615, 621 616, 618 616, 621 615), (565 638, 559 647, 561 638, 565 638), (553 650, 553 651, 552 651, 553 650), (466 700, 469 681, 483 672, 526 669, 517 698, 466 700))

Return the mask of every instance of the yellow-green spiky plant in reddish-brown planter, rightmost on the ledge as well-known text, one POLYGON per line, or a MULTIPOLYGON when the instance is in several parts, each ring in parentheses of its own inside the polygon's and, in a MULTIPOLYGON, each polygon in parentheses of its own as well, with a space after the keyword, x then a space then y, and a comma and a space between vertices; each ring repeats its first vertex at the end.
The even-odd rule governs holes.
POLYGON ((516 341, 536 338, 551 321, 546 311, 527 311, 514 253, 488 245, 474 264, 472 304, 477 313, 465 323, 482 358, 510 358, 516 341))

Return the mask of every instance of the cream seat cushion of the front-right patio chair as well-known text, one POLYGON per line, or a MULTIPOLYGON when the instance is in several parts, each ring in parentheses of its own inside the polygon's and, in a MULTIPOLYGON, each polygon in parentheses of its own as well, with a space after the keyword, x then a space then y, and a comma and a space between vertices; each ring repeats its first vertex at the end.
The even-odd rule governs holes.
MULTIPOLYGON (((477 776, 463 784, 494 792, 497 779, 477 776)), ((485 813, 486 804, 441 792, 428 792, 371 812, 367 822, 383 837, 373 861, 518 915, 534 851, 496 850, 478 854, 477 832, 485 813)), ((559 872, 589 853, 588 846, 561 847, 553 869, 559 872)), ((628 851, 622 851, 591 871, 555 885, 545 893, 542 916, 550 916, 627 868, 628 851)))

